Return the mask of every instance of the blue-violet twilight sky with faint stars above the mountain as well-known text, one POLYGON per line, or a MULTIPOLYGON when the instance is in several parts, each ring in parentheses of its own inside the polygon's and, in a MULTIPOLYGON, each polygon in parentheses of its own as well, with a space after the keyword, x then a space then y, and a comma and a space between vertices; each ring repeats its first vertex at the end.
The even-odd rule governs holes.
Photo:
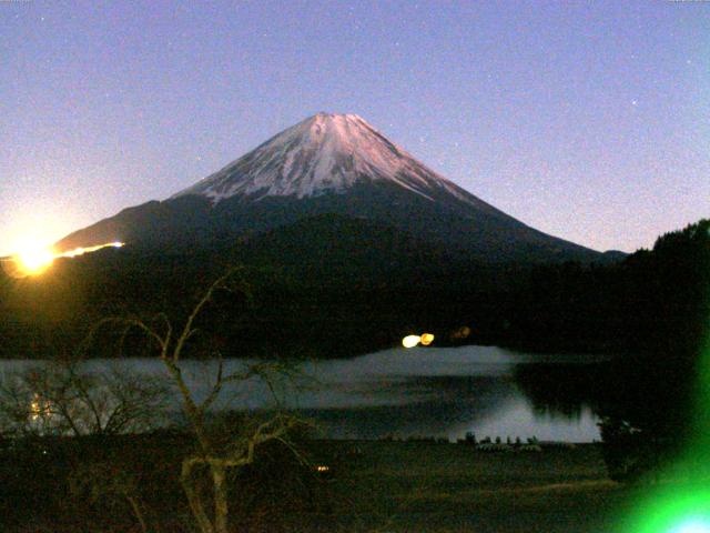
POLYGON ((0 254, 318 111, 598 250, 710 217, 710 2, 0 0, 0 254))

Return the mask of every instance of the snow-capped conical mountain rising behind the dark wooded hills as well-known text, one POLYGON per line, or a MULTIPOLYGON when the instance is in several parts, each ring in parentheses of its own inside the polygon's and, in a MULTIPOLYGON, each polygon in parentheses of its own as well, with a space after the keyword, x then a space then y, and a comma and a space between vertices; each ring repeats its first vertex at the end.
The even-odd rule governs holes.
MULTIPOLYGON (((263 235, 274 240, 290 227, 288 234, 297 240, 322 231, 324 220, 334 220, 335 230, 344 221, 351 230, 362 224, 367 238, 359 245, 373 245, 382 229, 417 245, 490 263, 604 257, 476 198, 361 117, 331 113, 282 131, 164 201, 125 209, 79 230, 57 248, 123 241, 153 250, 211 249, 263 235)), ((324 239, 338 239, 337 231, 325 233, 324 239)))

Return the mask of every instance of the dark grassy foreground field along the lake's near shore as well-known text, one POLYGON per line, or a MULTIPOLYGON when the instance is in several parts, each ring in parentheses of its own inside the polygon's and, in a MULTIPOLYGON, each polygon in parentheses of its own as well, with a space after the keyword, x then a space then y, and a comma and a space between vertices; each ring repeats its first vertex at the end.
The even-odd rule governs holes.
MULTIPOLYGON (((2 531, 139 532, 125 495, 136 496, 149 531, 194 531, 176 480, 186 441, 139 440, 6 450, 2 531)), ((611 532, 630 501, 594 444, 495 453, 433 442, 304 447, 307 466, 272 450, 234 480, 235 532, 611 532)))

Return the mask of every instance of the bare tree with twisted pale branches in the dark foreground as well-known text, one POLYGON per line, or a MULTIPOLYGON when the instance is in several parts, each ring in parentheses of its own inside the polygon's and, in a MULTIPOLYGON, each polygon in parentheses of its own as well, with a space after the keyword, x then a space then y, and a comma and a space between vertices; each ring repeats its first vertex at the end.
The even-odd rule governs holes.
MULTIPOLYGON (((104 321, 122 324, 125 328, 124 333, 130 329, 142 331, 156 346, 158 356, 180 393, 183 411, 196 440, 195 453, 184 457, 182 462, 180 481, 187 497, 190 511, 202 533, 227 532, 230 515, 227 473, 253 463, 257 446, 270 441, 280 441, 295 452, 287 436, 288 432, 300 424, 293 415, 277 411, 276 414, 267 415, 265 419, 245 422, 242 428, 233 430, 225 441, 216 436, 207 423, 209 411, 227 384, 260 379, 273 391, 272 378, 283 374, 285 370, 280 363, 258 362, 245 365, 237 372, 227 373, 221 355, 217 354, 212 386, 206 396, 201 400, 197 400, 195 391, 185 379, 183 353, 187 341, 197 332, 195 321, 212 301, 216 291, 230 290, 229 282, 233 280, 234 274, 235 270, 229 271, 212 283, 194 305, 182 328, 174 329, 164 313, 156 315, 152 321, 138 318, 104 321), (200 484, 200 474, 205 472, 212 487, 209 499, 201 491, 200 484), (211 511, 209 511, 209 500, 212 503, 211 511)), ((242 285, 242 291, 244 290, 242 285)))

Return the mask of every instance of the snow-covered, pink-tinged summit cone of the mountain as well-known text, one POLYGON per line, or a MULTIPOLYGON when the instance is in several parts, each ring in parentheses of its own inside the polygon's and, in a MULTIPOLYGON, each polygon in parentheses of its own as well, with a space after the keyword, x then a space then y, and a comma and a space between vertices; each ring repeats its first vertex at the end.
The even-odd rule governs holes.
MULTIPOLYGON (((318 197, 355 183, 388 180, 434 200, 445 190, 470 195, 414 159, 357 114, 315 114, 172 198, 207 197, 213 203, 241 194, 318 197), (434 193, 434 194, 433 194, 434 193)), ((474 202, 475 203, 475 202, 474 202)))

